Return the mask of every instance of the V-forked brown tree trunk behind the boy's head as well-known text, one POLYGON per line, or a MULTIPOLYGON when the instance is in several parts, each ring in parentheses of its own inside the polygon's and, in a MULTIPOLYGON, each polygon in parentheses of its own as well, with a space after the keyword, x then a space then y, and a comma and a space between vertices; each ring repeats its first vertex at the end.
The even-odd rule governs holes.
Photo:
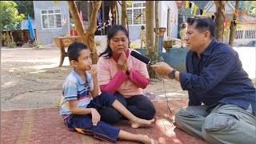
POLYGON ((92 1, 93 11, 90 18, 90 26, 88 27, 88 30, 86 32, 82 27, 82 22, 80 21, 80 18, 78 15, 78 9, 75 2, 74 1, 67 1, 67 2, 70 8, 70 13, 72 15, 72 18, 74 19, 74 26, 78 31, 78 36, 81 37, 82 42, 90 48, 90 51, 92 53, 93 64, 96 64, 98 62, 98 51, 96 49, 96 42, 94 41, 94 33, 97 26, 98 10, 101 7, 102 1, 92 1))

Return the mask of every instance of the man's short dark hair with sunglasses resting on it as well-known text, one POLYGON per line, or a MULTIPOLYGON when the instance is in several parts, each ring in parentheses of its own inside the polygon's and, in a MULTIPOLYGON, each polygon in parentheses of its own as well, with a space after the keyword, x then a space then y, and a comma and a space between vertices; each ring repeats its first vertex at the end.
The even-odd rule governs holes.
POLYGON ((195 25, 199 32, 210 31, 210 38, 215 38, 215 24, 212 18, 197 16, 195 18, 187 18, 186 22, 190 26, 195 25))

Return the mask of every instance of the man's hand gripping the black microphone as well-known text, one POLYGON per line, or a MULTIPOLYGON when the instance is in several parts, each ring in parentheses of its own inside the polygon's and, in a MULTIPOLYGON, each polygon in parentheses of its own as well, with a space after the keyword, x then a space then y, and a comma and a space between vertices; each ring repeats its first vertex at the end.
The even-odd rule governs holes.
POLYGON ((152 69, 160 75, 168 75, 173 70, 166 62, 158 62, 154 65, 150 65, 152 69))

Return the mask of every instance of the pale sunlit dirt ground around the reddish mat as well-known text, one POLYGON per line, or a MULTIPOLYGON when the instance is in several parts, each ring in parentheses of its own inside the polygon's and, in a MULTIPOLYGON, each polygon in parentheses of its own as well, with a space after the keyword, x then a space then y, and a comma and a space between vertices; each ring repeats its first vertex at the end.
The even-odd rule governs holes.
MULTIPOLYGON (((238 48, 237 51, 243 59, 244 69, 250 78, 255 79, 255 48, 238 48)), ((1 110, 57 106, 62 82, 72 69, 67 57, 63 65, 58 66, 58 48, 2 48, 1 53, 1 110)), ((143 90, 144 94, 156 96, 154 100, 187 98, 187 91, 182 90, 179 82, 170 78, 162 79, 151 79, 150 85, 143 90)))

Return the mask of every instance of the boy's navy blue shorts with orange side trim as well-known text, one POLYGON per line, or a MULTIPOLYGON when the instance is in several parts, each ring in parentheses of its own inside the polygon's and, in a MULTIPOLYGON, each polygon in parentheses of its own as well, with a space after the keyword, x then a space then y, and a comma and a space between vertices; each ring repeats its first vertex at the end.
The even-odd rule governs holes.
MULTIPOLYGON (((112 106, 115 97, 110 93, 102 93, 90 101, 87 108, 100 110, 103 106, 112 106)), ((105 122, 98 122, 93 125, 91 114, 70 114, 65 117, 64 122, 69 130, 77 131, 81 134, 93 134, 96 138, 101 138, 108 142, 117 142, 120 129, 115 128, 105 122)))

